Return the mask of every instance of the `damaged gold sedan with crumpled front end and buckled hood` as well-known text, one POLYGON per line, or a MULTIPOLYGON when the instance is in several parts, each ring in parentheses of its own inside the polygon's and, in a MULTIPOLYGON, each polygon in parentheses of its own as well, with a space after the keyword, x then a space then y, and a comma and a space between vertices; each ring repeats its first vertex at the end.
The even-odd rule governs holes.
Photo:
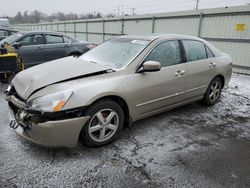
POLYGON ((10 127, 43 146, 112 142, 124 125, 194 101, 213 105, 232 59, 183 35, 121 36, 79 58, 20 72, 6 90, 10 127))

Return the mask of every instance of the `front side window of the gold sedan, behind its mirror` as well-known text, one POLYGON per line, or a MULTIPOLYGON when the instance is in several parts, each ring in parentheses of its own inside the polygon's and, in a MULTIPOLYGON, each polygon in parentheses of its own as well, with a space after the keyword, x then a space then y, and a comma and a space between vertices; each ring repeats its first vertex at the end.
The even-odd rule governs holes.
POLYGON ((181 53, 178 41, 167 41, 156 46, 145 61, 158 61, 162 67, 181 63, 181 53))

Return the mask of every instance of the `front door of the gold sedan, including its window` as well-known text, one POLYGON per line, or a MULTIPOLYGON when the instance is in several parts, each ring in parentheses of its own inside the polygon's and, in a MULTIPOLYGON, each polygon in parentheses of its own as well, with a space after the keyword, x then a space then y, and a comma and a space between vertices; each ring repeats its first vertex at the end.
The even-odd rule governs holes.
POLYGON ((161 63, 161 70, 135 75, 137 86, 135 114, 143 117, 157 113, 185 100, 186 65, 181 57, 179 41, 158 44, 145 58, 161 63))

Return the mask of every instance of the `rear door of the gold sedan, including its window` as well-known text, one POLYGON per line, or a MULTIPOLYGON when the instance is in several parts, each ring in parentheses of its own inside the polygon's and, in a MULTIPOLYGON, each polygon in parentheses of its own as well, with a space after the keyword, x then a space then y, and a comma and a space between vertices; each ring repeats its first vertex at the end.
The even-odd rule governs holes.
POLYGON ((216 75, 216 63, 211 50, 201 41, 182 40, 187 59, 187 97, 202 96, 216 75))

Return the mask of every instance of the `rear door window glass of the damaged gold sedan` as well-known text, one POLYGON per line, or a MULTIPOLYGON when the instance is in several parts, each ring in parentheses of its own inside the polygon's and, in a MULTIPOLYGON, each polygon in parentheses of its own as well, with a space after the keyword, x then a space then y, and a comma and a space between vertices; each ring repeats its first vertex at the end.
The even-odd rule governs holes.
POLYGON ((202 42, 194 40, 183 40, 187 61, 197 61, 207 58, 205 45, 202 42))

